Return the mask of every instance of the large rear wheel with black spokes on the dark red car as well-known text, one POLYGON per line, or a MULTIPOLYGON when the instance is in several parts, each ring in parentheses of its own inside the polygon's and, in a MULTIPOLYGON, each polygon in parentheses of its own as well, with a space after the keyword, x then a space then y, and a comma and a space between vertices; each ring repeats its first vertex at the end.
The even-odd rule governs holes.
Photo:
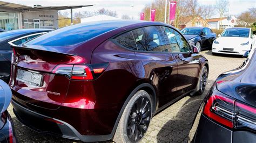
POLYGON ((152 99, 145 90, 139 90, 127 103, 119 120, 113 141, 138 142, 146 134, 152 118, 152 99))

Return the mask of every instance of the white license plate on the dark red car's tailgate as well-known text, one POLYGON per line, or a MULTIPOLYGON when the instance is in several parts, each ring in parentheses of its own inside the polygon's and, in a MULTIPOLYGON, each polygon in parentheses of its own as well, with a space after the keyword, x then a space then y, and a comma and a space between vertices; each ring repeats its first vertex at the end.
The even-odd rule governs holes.
POLYGON ((18 69, 18 74, 16 77, 17 81, 22 81, 36 86, 41 86, 42 84, 42 75, 37 73, 32 73, 30 71, 25 71, 18 69))

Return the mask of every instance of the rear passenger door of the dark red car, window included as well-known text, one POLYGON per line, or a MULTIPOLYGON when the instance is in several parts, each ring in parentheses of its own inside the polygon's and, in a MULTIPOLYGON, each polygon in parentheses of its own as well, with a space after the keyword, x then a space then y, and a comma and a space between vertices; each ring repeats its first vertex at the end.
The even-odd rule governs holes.
POLYGON ((177 62, 173 58, 163 27, 148 26, 132 31, 138 47, 136 56, 145 68, 145 75, 158 89, 159 107, 172 101, 176 90, 177 62))

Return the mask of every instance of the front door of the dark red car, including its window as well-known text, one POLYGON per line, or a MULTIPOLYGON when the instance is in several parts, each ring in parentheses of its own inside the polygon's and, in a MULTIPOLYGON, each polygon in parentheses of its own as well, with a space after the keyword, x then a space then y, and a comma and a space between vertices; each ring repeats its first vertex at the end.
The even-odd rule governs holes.
POLYGON ((199 59, 196 54, 192 54, 190 45, 181 34, 170 27, 165 27, 165 31, 172 55, 178 64, 176 95, 180 96, 196 88, 200 71, 199 59))

